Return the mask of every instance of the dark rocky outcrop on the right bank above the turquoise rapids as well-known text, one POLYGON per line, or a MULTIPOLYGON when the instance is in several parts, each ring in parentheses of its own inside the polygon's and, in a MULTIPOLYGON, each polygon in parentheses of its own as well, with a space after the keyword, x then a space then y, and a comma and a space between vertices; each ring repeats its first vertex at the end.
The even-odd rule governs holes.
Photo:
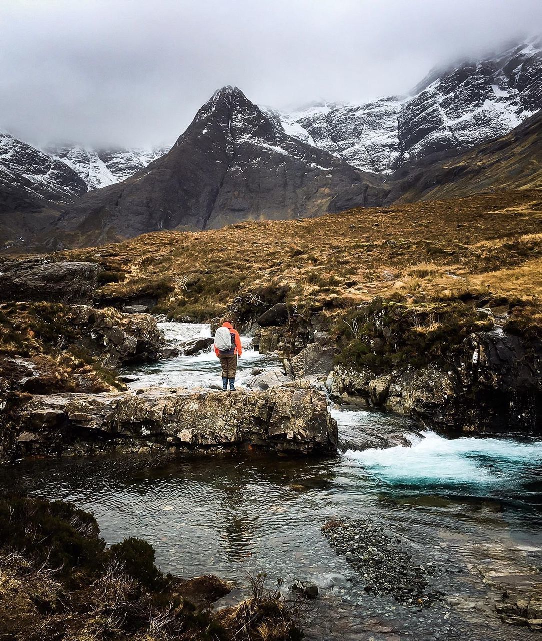
POLYGON ((327 380, 347 403, 384 407, 443 431, 542 433, 542 344, 497 329, 473 333, 446 367, 383 376, 340 365, 327 380))

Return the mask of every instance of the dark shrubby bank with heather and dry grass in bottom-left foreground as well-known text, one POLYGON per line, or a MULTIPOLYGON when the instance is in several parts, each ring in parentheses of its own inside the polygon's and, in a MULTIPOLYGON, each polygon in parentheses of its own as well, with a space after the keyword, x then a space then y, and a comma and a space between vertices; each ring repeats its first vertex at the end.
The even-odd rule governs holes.
POLYGON ((94 517, 69 503, 0 499, 3 637, 252 641, 265 626, 277 640, 301 638, 295 605, 257 579, 254 587, 239 606, 213 612, 233 585, 211 575, 163 574, 142 539, 106 547, 94 517))

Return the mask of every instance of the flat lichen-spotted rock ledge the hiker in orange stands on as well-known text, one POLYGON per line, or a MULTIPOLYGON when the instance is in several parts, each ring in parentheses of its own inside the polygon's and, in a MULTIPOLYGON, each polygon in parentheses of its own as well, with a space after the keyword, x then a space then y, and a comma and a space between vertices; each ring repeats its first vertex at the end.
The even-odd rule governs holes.
POLYGON ((334 454, 338 445, 325 396, 311 388, 35 395, 17 431, 19 456, 243 446, 334 454))

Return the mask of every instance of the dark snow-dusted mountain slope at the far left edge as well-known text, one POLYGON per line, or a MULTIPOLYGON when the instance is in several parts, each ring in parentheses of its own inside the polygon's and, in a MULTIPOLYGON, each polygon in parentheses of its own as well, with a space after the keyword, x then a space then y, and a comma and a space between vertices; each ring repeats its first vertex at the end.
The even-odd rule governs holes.
POLYGON ((1 131, 0 182, 28 197, 54 202, 86 192, 83 180, 61 160, 1 131))

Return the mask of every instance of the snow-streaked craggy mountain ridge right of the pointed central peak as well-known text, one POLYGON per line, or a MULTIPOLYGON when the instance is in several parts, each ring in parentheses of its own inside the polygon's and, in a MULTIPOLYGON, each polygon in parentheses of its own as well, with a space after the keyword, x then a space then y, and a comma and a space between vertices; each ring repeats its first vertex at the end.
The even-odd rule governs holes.
POLYGON ((509 133, 542 108, 542 42, 433 70, 406 97, 268 110, 286 133, 359 169, 390 173, 408 160, 509 133))

